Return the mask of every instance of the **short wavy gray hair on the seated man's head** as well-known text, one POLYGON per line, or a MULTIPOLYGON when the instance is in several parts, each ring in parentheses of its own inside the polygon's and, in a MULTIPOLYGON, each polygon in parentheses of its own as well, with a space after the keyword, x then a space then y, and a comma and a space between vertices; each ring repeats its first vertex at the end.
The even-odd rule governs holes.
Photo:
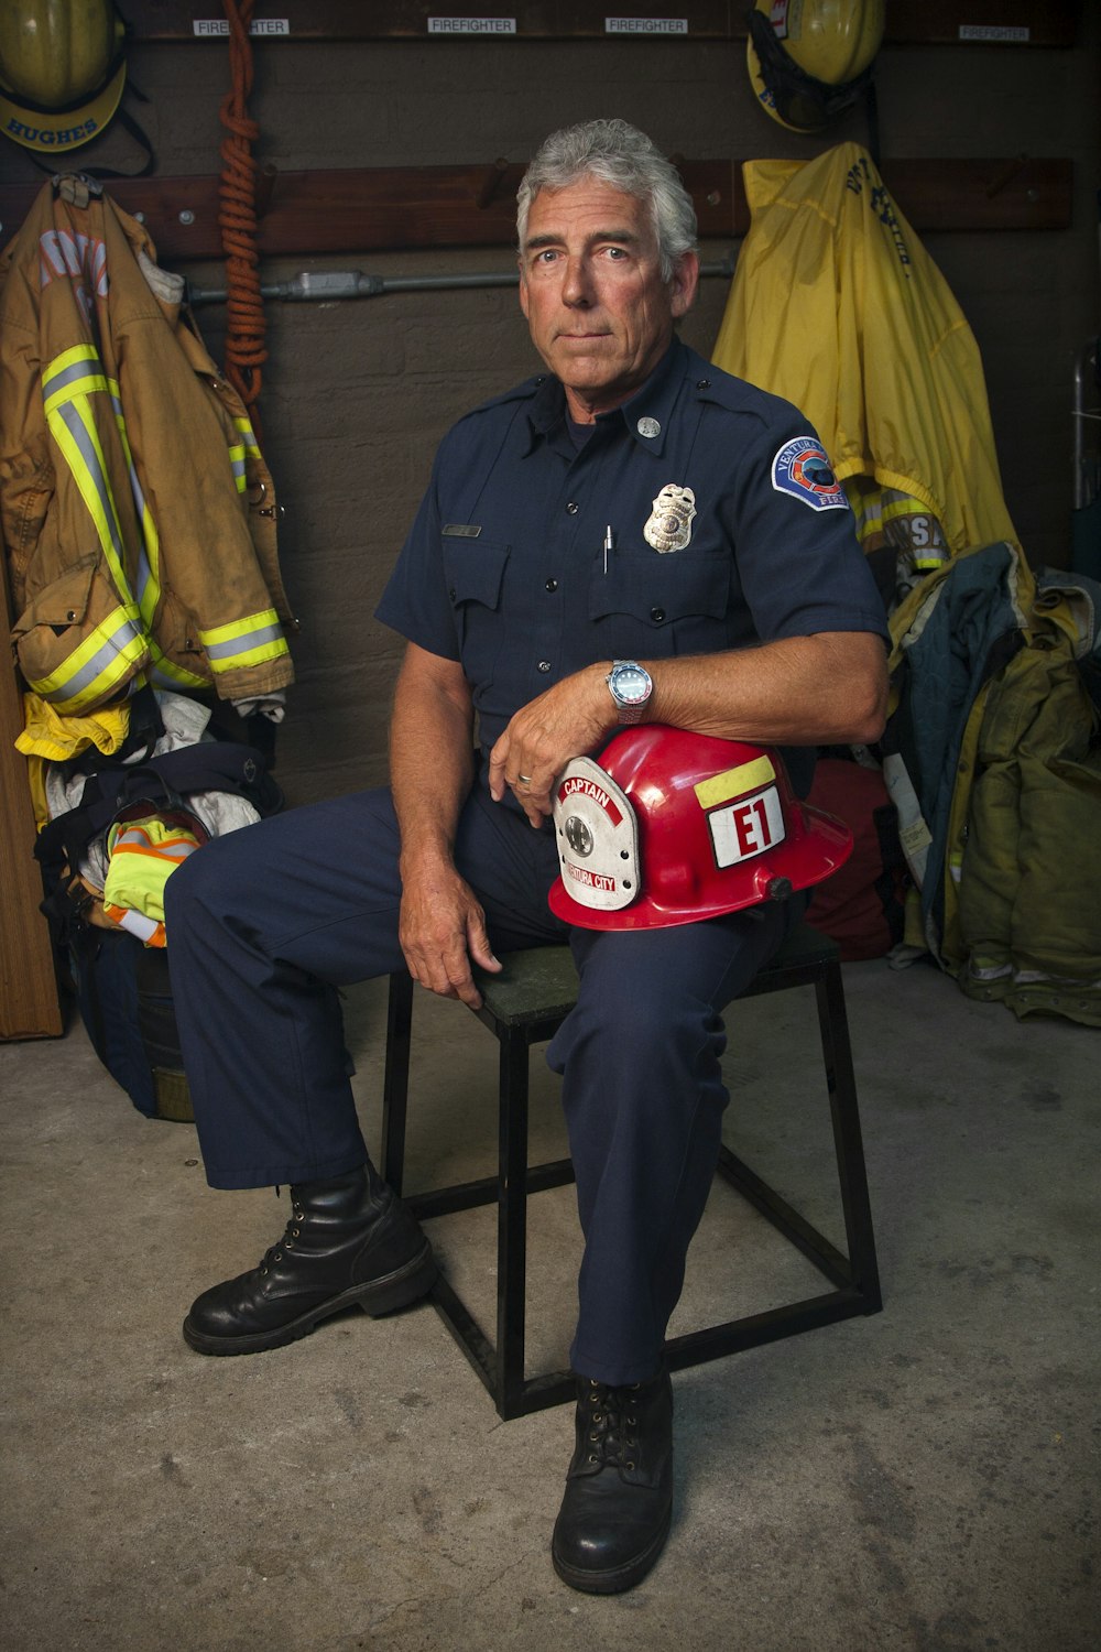
POLYGON ((565 190, 579 178, 599 178, 650 206, 662 281, 672 281, 673 264, 697 249, 697 216, 680 173, 645 132, 626 121, 586 121, 551 132, 535 152, 517 190, 520 254, 528 233, 528 211, 540 190, 565 190))

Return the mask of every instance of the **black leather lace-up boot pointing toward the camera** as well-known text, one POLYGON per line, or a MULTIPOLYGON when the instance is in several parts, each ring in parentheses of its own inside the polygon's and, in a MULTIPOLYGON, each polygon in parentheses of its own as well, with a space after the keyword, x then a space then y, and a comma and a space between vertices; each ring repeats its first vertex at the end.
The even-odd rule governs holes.
POLYGON ((669 1371, 631 1388, 578 1378, 576 1447, 551 1558, 586 1594, 632 1589, 662 1553, 673 1510, 669 1371))

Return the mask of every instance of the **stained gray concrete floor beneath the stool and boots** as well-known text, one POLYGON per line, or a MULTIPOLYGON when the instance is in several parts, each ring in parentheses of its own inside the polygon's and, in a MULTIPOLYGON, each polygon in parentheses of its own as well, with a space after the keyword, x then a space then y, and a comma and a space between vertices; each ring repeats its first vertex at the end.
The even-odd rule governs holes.
MULTIPOLYGON (((569 1408, 500 1422, 428 1305, 193 1355, 191 1297, 258 1260, 286 1191, 211 1193, 193 1128, 142 1118, 79 1024, 0 1046, 3 1645, 1094 1652, 1098 1034, 1018 1024, 924 965, 845 985, 885 1312, 675 1378, 673 1531, 614 1599, 548 1559, 569 1408)), ((802 991, 735 1008, 728 1138, 840 1239, 812 1023, 802 991)), ((350 995, 371 1142, 381 1026, 378 986, 350 995)), ((482 1173, 495 1046, 426 995, 414 1026, 413 1176, 482 1173)), ((569 1335, 571 1199, 533 1201, 536 1366, 569 1335)), ((490 1221, 434 1224, 487 1313, 490 1221)), ((804 1269, 716 1189, 675 1328, 784 1300, 804 1269)))

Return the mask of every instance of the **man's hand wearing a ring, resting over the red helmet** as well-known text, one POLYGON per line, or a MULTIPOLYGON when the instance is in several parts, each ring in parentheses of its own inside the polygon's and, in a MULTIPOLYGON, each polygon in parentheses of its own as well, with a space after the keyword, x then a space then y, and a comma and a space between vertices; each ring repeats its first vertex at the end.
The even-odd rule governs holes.
POLYGON ((551 811, 551 786, 571 757, 594 752, 616 727, 607 692, 611 664, 586 666, 528 700, 489 755, 489 790, 495 803, 510 786, 533 826, 551 811))

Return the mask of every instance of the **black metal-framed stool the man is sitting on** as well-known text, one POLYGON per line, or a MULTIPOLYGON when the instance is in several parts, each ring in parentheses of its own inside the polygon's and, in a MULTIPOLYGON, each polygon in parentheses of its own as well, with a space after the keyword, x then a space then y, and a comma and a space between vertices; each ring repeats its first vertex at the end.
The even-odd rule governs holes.
MULTIPOLYGON (((568 1158, 528 1166, 530 1049, 532 1044, 550 1039, 576 1003, 578 976, 568 947, 513 952, 502 961, 500 975, 479 975, 484 1001, 482 1008, 474 1011, 500 1044, 497 1176, 431 1193, 409 1194, 403 1188, 413 1026, 413 980, 404 971, 390 976, 381 1171, 419 1219, 497 1204, 497 1341, 489 1340, 442 1275, 432 1287, 432 1302, 492 1394, 497 1411, 508 1419, 574 1396, 569 1371, 525 1376, 525 1310, 528 1193, 573 1181, 573 1165, 568 1158)), ((720 1173, 814 1262, 834 1289, 764 1313, 673 1336, 667 1343, 670 1370, 700 1365, 781 1336, 794 1336, 855 1313, 877 1313, 883 1305, 837 945, 809 925, 801 925, 741 998, 806 985, 812 985, 817 996, 847 1254, 837 1251, 748 1165, 723 1146, 720 1173)))

